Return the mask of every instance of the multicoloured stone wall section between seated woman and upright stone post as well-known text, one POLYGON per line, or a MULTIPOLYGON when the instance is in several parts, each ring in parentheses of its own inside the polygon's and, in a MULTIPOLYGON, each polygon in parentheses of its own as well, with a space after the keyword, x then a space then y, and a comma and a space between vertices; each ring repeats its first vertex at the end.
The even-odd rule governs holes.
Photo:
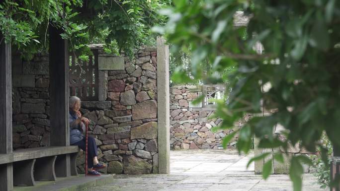
MULTIPOLYGON (((98 158, 108 166, 101 172, 150 174, 158 163, 156 49, 140 50, 133 61, 101 53, 99 50, 99 81, 107 95, 99 97, 107 98, 82 102, 82 113, 91 120, 89 135, 97 142, 98 158), (110 66, 113 70, 108 70, 110 66)), ((81 173, 84 161, 81 153, 81 173)))

